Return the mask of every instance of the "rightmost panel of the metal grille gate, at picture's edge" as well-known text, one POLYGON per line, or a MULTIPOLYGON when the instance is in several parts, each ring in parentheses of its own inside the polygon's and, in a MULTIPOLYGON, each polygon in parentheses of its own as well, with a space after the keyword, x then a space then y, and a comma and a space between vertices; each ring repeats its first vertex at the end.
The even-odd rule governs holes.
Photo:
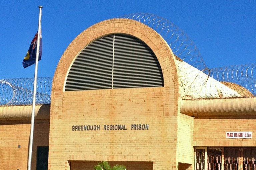
POLYGON ((243 170, 255 170, 256 149, 243 149, 243 170))

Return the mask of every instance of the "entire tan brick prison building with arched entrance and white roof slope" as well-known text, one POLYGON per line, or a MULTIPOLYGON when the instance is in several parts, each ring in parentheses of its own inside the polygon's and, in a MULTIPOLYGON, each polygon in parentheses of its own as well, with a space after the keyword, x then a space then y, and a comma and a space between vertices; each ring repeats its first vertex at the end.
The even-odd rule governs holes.
MULTIPOLYGON (((107 160, 128 170, 253 170, 256 100, 239 87, 189 65, 141 22, 99 22, 67 47, 51 104, 36 107, 32 169, 107 160), (183 79, 194 90, 185 93, 183 79), (199 93, 216 98, 190 99, 199 93)), ((0 169, 27 169, 31 106, 0 110, 0 169)))

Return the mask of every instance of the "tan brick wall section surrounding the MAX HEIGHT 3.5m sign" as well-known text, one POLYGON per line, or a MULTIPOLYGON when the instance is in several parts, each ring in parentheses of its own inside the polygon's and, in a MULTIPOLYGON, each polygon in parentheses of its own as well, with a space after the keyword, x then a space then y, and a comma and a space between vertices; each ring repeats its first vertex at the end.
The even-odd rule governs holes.
POLYGON ((235 117, 215 119, 195 119, 195 146, 255 146, 255 119, 235 117), (252 131, 252 138, 226 138, 227 131, 252 131))

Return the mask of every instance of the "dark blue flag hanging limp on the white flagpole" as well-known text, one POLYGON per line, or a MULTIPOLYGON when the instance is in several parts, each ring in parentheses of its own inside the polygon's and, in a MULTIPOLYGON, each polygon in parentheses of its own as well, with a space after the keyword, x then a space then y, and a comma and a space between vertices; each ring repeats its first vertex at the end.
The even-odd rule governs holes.
MULTIPOLYGON (((27 52, 26 56, 23 59, 22 65, 23 65, 24 68, 36 63, 37 36, 38 36, 38 32, 36 33, 35 37, 33 38, 32 42, 30 43, 28 52, 27 52)), ((43 46, 43 44, 42 44, 42 35, 40 34, 38 61, 41 60, 42 46, 43 46)))

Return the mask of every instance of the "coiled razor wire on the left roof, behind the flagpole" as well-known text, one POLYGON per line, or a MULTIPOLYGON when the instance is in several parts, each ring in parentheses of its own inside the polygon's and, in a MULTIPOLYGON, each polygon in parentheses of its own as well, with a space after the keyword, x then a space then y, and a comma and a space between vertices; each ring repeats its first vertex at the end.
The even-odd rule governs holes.
MULTIPOLYGON (((52 79, 37 78, 36 104, 51 103, 52 79)), ((32 105, 34 78, 0 80, 0 105, 32 105)))

